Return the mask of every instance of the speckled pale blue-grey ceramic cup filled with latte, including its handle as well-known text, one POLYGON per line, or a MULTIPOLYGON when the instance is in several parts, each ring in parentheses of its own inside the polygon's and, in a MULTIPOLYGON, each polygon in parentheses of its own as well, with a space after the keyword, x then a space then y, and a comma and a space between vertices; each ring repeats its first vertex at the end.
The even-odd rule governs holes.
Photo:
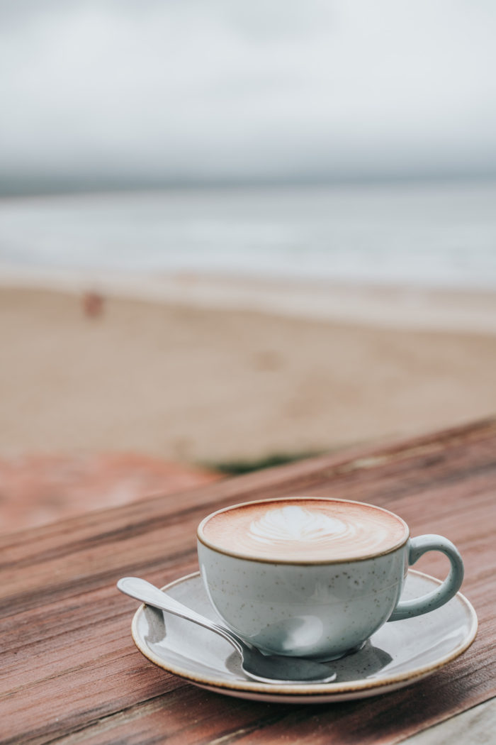
POLYGON ((234 633, 265 653, 337 659, 386 621, 448 602, 463 580, 442 536, 410 538, 399 517, 370 504, 283 498, 233 505, 198 528, 210 602, 234 633), (426 551, 450 563, 438 589, 400 600, 408 567, 426 551))

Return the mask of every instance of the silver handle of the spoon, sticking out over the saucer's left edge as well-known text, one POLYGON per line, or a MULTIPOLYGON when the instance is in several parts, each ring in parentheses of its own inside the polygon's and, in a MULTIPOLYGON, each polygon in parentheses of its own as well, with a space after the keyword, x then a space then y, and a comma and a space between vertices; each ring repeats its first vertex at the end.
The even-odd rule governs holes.
POLYGON ((210 621, 193 609, 184 606, 178 600, 175 600, 174 597, 167 595, 167 593, 162 592, 158 587, 152 585, 152 583, 142 580, 141 577, 122 577, 117 582, 117 589, 123 592, 124 595, 134 597, 135 600, 141 600, 142 603, 146 603, 154 608, 178 615, 186 621, 193 621, 193 624, 198 624, 205 629, 213 631, 213 633, 219 634, 219 636, 222 636, 232 644, 240 654, 242 653, 241 644, 231 631, 216 624, 214 621, 210 621))

